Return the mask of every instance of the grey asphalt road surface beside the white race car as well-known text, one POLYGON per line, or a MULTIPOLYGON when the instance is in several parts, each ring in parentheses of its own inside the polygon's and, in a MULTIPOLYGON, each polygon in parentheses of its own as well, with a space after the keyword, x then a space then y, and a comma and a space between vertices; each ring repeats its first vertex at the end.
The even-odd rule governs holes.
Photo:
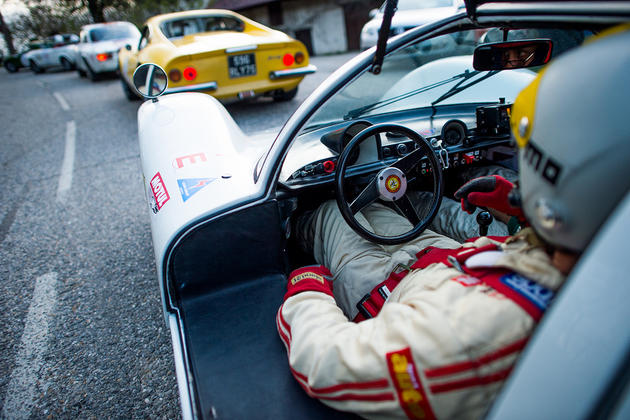
MULTIPOLYGON (((353 55, 314 57, 293 101, 228 111, 279 128, 353 55)), ((117 79, 0 69, 0 418, 180 417, 139 106, 117 79)))

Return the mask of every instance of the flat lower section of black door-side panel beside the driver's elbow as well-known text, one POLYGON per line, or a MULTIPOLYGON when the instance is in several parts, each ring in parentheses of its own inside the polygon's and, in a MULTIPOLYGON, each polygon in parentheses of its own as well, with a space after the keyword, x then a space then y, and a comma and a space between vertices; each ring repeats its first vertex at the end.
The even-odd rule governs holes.
POLYGON ((286 278, 267 276, 185 301, 200 417, 358 419, 310 398, 289 371, 275 326, 286 278))

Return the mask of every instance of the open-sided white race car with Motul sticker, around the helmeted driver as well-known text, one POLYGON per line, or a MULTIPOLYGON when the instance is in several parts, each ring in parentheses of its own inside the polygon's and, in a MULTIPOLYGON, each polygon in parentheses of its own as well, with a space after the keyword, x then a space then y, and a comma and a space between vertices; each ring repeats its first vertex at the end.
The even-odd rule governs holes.
MULTIPOLYGON (((541 69, 532 66, 630 22, 628 1, 466 5, 392 38, 385 51, 361 53, 267 137, 246 136, 209 95, 159 96, 165 72, 138 68, 134 84, 151 99, 138 110, 142 177, 184 419, 356 418, 307 396, 277 336, 288 273, 314 263, 292 229, 296 217, 331 198, 354 214, 348 199, 392 167, 433 200, 452 197, 470 166, 517 170, 509 118, 541 69), (519 46, 531 52, 512 58, 519 46), (473 66, 486 53, 482 63, 500 65, 473 66)), ((590 86, 584 80, 585 95, 590 86)), ((623 100, 628 84, 621 89, 623 100)), ((593 142, 601 128, 593 126, 593 142)), ((575 165, 601 156, 587 157, 575 165)), ((414 231, 435 215, 399 209, 414 231)), ((628 418, 628 217, 626 194, 529 340, 491 417, 628 418)), ((492 386, 487 379, 471 386, 492 386)), ((373 396, 343 384, 327 389, 337 391, 331 399, 373 396)))

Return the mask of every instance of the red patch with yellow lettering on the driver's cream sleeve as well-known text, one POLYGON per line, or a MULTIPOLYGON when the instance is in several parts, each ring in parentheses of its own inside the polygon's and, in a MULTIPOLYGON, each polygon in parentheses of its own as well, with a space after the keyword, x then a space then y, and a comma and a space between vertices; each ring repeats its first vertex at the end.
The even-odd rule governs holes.
POLYGON ((398 394, 400 406, 410 419, 435 419, 422 389, 409 347, 387 353, 387 367, 398 394))

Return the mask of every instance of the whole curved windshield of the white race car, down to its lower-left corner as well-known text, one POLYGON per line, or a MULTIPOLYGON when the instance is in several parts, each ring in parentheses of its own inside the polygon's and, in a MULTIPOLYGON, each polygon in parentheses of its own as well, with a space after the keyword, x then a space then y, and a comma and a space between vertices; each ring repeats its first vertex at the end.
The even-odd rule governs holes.
MULTIPOLYGON (((511 30, 508 40, 551 39, 555 57, 580 45, 590 34, 579 30, 511 30)), ((313 113, 291 145, 281 181, 305 165, 336 156, 322 138, 357 121, 402 123, 432 137, 440 135, 440 124, 457 114, 469 129, 475 128, 477 106, 512 103, 540 70, 475 70, 475 48, 502 39, 500 28, 464 30, 388 54, 380 74, 364 71, 313 113)))

